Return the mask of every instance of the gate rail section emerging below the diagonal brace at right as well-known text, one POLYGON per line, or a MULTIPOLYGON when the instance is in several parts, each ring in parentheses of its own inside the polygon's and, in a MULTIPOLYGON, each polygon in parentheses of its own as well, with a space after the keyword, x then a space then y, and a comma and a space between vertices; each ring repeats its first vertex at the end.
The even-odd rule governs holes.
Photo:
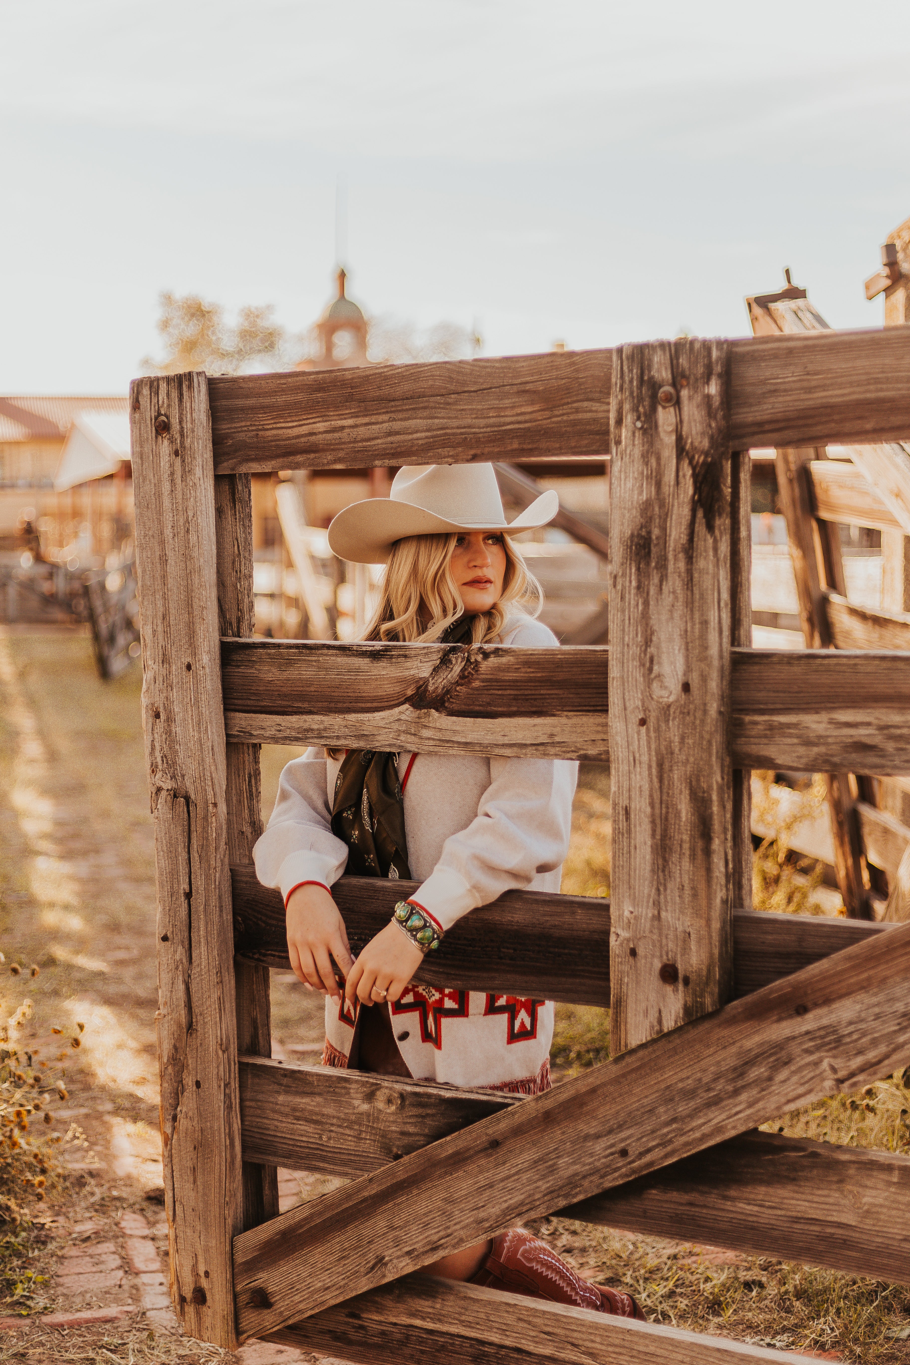
POLYGON ((647 1237, 910 1283, 910 1158, 744 1133, 559 1211, 647 1237))

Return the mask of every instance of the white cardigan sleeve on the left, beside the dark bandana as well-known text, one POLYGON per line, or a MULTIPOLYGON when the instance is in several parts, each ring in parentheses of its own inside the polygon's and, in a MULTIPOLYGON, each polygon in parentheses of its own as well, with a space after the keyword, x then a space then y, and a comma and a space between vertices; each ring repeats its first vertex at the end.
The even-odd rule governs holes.
POLYGON ((322 749, 307 749, 287 764, 271 819, 252 849, 256 876, 287 901, 302 882, 333 886, 344 872, 348 846, 332 833, 322 749))

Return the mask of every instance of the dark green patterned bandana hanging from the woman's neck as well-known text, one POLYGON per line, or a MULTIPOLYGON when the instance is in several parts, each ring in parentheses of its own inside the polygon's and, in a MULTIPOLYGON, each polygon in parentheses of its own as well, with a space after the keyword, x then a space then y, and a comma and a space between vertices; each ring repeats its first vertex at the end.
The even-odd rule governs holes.
MULTIPOLYGON (((441 644, 468 644, 472 616, 461 616, 441 644)), ((411 879, 397 753, 348 749, 334 785, 332 833, 348 845, 349 876, 411 879)))

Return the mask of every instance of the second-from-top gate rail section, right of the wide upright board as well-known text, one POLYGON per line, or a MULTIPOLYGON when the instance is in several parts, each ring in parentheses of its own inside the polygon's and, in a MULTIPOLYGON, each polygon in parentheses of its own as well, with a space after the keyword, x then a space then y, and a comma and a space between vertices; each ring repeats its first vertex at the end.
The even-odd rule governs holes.
POLYGON ((734 650, 733 655, 734 760, 804 773, 910 771, 910 655, 896 650, 734 650))

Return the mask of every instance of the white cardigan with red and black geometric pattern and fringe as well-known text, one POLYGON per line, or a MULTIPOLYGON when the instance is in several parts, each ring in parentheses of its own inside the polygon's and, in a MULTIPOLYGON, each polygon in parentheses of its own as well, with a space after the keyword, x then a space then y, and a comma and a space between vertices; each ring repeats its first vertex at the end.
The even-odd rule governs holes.
MULTIPOLYGON (((531 617, 506 621, 502 644, 557 646, 531 617)), ((405 773, 409 753, 398 755, 405 773)), ((256 875, 287 898, 300 882, 332 886, 348 849, 330 829, 338 762, 307 749, 281 774, 256 875)), ((577 763, 482 755, 419 755, 404 792, 415 900, 445 930, 512 887, 558 891, 569 846, 577 763)), ((532 1092, 548 1082, 553 1003, 412 986, 390 1006, 398 1050, 417 1080, 532 1092)), ((326 1001, 323 1061, 347 1066, 356 1018, 326 1001)))

